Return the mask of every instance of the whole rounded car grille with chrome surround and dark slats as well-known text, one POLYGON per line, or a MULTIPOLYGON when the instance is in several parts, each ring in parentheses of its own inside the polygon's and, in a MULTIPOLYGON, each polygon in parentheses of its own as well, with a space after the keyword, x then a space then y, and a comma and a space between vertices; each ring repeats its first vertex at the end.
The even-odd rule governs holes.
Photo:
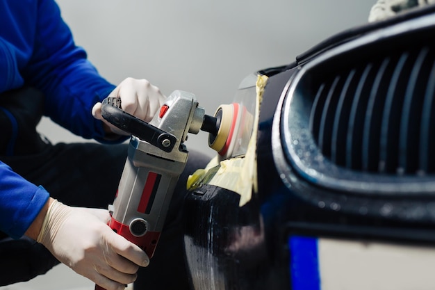
POLYGON ((299 176, 352 193, 435 193, 434 35, 427 15, 301 64, 272 129, 284 182, 299 176))

